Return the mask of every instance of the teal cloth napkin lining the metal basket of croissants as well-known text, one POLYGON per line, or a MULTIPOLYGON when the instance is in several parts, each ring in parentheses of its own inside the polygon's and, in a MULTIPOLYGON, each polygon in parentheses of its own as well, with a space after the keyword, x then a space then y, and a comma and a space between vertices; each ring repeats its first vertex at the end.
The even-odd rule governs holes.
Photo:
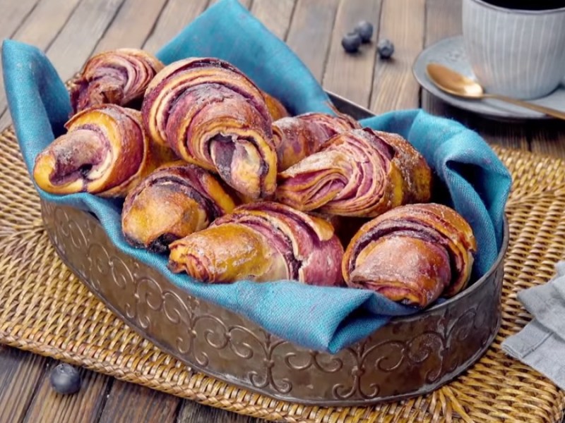
MULTIPOLYGON (((304 64, 236 0, 210 7, 157 56, 165 63, 189 56, 219 57, 281 99, 293 114, 331 113, 328 96, 304 64)), ((31 173, 37 154, 63 132, 71 111, 69 94, 39 49, 5 40, 2 60, 13 124, 31 173)), ((509 173, 494 152, 463 125, 420 110, 394 112, 363 123, 404 135, 424 154, 444 188, 444 200, 472 225, 480 245, 475 277, 484 274, 501 245, 504 205, 511 186, 509 173)), ((119 250, 153 266, 191 295, 242 314, 270 333, 307 348, 336 353, 369 336, 391 317, 417 311, 370 290, 313 287, 295 281, 199 283, 172 274, 165 255, 137 250, 125 242, 121 202, 88 193, 57 196, 37 191, 49 202, 95 214, 119 250)))

